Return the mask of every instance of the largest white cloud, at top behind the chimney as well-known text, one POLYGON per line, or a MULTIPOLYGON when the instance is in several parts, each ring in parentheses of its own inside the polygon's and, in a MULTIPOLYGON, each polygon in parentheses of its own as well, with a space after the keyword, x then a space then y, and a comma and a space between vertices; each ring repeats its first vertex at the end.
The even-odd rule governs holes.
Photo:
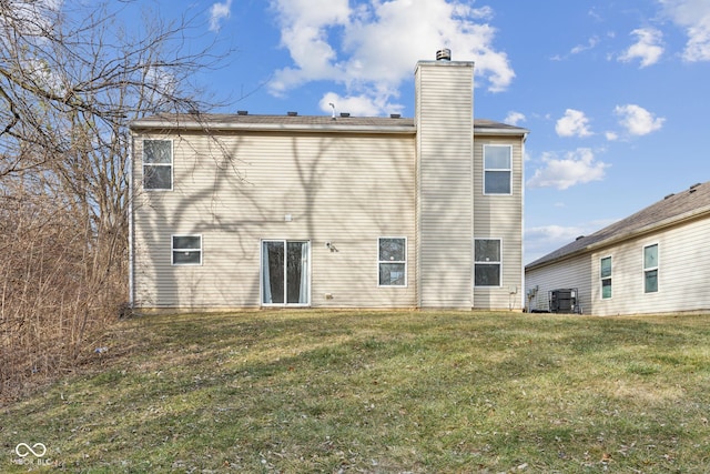
POLYGON ((452 49, 453 60, 475 61, 490 91, 505 90, 515 77, 506 53, 493 46, 489 7, 463 0, 272 0, 272 7, 293 60, 270 83, 277 95, 327 80, 344 85, 348 98, 392 105, 416 61, 434 59, 439 48, 452 49))

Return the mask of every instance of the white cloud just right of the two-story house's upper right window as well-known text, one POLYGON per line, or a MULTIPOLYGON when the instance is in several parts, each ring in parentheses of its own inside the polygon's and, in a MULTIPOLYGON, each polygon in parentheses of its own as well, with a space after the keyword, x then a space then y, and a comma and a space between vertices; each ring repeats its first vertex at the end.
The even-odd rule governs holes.
POLYGON ((558 159, 555 153, 542 155, 545 168, 535 171, 526 183, 527 188, 557 188, 566 190, 576 184, 600 181, 609 164, 596 161, 594 152, 588 148, 580 148, 566 153, 558 159))

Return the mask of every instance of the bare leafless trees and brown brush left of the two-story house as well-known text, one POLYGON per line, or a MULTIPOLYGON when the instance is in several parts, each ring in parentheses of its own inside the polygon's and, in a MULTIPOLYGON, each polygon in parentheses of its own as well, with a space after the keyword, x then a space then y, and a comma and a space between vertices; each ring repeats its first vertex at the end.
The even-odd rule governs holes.
POLYGON ((71 319, 52 350, 75 360, 97 314, 125 299, 128 123, 217 105, 192 78, 231 51, 213 53, 213 42, 190 50, 194 17, 165 22, 146 12, 131 30, 126 4, 0 0, 0 226, 13 230, 0 251, 16 252, 0 268, 2 382, 19 375, 2 354, 39 346, 21 329, 40 310, 44 329, 71 319), (63 288, 61 303, 49 281, 63 288))

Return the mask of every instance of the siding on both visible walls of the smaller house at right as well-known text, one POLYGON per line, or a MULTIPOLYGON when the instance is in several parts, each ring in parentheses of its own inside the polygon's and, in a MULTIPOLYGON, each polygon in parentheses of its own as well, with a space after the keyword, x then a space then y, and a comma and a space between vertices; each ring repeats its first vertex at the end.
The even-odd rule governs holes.
POLYGON ((585 313, 670 313, 710 310, 710 218, 651 232, 526 272, 526 290, 537 288, 530 309, 547 310, 547 292, 578 288, 585 313), (658 292, 643 290, 643 248, 659 246, 658 292), (611 297, 601 297, 600 260, 611 256, 611 297))

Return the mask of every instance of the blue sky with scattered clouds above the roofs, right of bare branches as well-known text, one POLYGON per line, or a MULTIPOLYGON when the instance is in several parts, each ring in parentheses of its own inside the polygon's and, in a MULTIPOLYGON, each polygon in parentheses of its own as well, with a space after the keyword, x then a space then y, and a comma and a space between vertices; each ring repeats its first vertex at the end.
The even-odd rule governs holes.
MULTIPOLYGON (((146 2, 148 3, 148 2, 146 2)), ((150 3, 154 6, 154 3, 150 3)), ((709 0, 159 0, 232 47, 224 111, 414 114, 414 67, 476 62, 475 117, 530 130, 525 263, 710 178, 709 0)))

